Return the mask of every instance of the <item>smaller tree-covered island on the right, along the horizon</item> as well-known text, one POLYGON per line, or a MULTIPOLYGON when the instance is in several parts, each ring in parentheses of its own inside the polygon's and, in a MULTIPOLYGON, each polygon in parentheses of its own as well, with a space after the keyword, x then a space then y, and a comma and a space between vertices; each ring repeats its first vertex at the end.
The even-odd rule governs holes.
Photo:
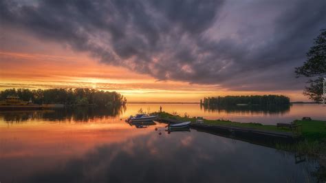
POLYGON ((204 106, 226 106, 226 105, 290 105, 287 96, 263 95, 263 96, 217 96, 201 100, 204 106))

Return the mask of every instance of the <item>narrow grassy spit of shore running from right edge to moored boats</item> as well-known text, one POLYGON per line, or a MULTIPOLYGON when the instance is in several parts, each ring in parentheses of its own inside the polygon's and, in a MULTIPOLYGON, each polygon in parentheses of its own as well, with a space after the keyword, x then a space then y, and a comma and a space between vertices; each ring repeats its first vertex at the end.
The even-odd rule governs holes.
POLYGON ((283 127, 279 128, 276 125, 262 125, 261 123, 254 122, 233 122, 230 120, 206 120, 204 118, 201 118, 203 123, 199 124, 196 122, 199 118, 195 117, 173 116, 166 112, 153 114, 157 115, 161 120, 163 119, 166 121, 191 121, 191 128, 197 129, 197 131, 198 129, 204 130, 210 133, 216 133, 219 136, 226 136, 228 138, 235 138, 243 141, 250 140, 250 142, 258 142, 260 144, 271 144, 272 142, 272 147, 275 149, 303 153, 318 159, 326 157, 325 120, 294 120, 292 124, 299 126, 301 129, 300 131, 293 131, 283 127), (234 129, 239 132, 237 133, 234 129), (242 130, 244 130, 244 132, 242 130), (264 131, 266 134, 264 134, 264 131), (272 138, 272 133, 283 133, 289 136, 282 140, 282 138, 272 138), (295 137, 295 140, 291 140, 290 134, 295 137))

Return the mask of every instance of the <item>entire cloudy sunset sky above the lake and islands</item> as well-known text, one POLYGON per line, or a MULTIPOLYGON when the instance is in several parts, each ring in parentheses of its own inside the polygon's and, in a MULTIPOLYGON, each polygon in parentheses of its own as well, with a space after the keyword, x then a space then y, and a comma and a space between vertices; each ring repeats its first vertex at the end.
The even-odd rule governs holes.
POLYGON ((0 89, 307 101, 294 68, 326 28, 325 10, 325 0, 0 0, 0 89))

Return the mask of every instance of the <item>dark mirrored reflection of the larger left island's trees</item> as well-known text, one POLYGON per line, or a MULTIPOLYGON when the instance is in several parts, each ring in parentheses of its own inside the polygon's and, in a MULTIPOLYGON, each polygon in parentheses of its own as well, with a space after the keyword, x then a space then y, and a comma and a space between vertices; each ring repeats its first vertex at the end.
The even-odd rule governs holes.
POLYGON ((106 119, 120 116, 126 111, 126 107, 75 107, 56 110, 40 111, 2 111, 0 118, 6 122, 25 122, 28 120, 49 121, 76 121, 88 122, 95 119, 106 119))

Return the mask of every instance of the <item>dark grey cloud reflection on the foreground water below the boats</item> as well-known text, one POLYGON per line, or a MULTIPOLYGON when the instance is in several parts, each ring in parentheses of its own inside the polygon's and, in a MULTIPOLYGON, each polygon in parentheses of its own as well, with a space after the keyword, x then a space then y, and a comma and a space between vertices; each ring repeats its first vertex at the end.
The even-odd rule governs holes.
MULTIPOLYGON (((40 160, 35 160, 40 162, 40 160)), ((33 166, 33 164, 30 164, 33 166)), ((27 182, 285 182, 304 180, 301 166, 274 149, 192 131, 153 131, 102 144, 64 164, 37 169, 27 182), (172 138, 165 138, 165 137, 172 138), (190 140, 191 139, 191 140, 190 140), (184 142, 191 145, 184 146, 184 142), (226 146, 229 144, 229 146, 226 146), (151 153, 155 149, 155 153, 151 153), (223 149, 221 151, 221 149, 223 149)))

